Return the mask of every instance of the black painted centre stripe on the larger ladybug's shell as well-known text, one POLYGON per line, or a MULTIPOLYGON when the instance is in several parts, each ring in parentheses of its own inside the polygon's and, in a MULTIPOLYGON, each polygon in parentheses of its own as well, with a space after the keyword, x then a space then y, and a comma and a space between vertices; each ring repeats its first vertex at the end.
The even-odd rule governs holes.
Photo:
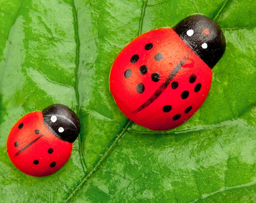
POLYGON ((138 113, 141 110, 145 109, 145 107, 148 107, 150 104, 152 104, 171 83, 172 79, 177 75, 179 70, 181 69, 181 66, 184 65, 187 61, 187 57, 183 58, 172 70, 172 72, 169 74, 169 76, 166 78, 166 80, 158 87, 158 89, 154 92, 153 95, 151 95, 150 98, 148 98, 139 108, 133 111, 133 113, 138 113))

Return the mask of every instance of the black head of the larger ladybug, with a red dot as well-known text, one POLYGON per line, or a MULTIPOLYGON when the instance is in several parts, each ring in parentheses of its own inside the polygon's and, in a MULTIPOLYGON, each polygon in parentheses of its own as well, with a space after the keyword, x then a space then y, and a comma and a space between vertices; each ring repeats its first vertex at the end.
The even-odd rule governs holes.
POLYGON ((209 68, 213 68, 224 54, 224 34, 209 17, 192 15, 180 21, 173 29, 209 68))

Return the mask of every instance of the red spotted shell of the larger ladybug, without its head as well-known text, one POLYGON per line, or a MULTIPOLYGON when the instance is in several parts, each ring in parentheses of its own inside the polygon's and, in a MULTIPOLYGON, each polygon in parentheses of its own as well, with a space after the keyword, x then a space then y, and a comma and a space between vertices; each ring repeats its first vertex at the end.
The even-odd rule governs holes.
POLYGON ((120 110, 131 121, 151 130, 169 130, 187 121, 204 103, 211 82, 212 70, 172 28, 149 31, 134 39, 116 57, 110 74, 110 90, 120 110), (148 43, 152 43, 153 47, 146 50, 145 45, 148 43), (163 55, 160 61, 154 59, 157 53, 163 55), (139 59, 132 63, 131 57, 135 54, 139 55, 139 59), (158 94, 157 90, 165 85, 168 76, 181 61, 186 63, 158 94), (145 74, 139 72, 142 65, 148 67, 145 74), (125 78, 128 69, 131 70, 131 76, 125 78), (158 82, 152 81, 153 73, 160 74, 158 82), (193 83, 189 82, 191 76, 194 79, 196 76, 193 83), (178 82, 176 89, 172 88, 172 82, 178 82), (139 83, 145 87, 143 93, 137 92, 139 83), (201 88, 197 88, 199 91, 196 92, 199 83, 201 88), (181 97, 183 91, 189 91, 186 99, 181 97), (149 98, 154 98, 154 101, 151 102, 149 98), (150 104, 145 107, 146 101, 150 104), (143 104, 145 108, 140 108, 143 104), (165 109, 169 112, 163 111, 166 105, 171 106, 171 110, 170 107, 165 109), (186 109, 191 106, 192 109, 187 112, 186 109))

